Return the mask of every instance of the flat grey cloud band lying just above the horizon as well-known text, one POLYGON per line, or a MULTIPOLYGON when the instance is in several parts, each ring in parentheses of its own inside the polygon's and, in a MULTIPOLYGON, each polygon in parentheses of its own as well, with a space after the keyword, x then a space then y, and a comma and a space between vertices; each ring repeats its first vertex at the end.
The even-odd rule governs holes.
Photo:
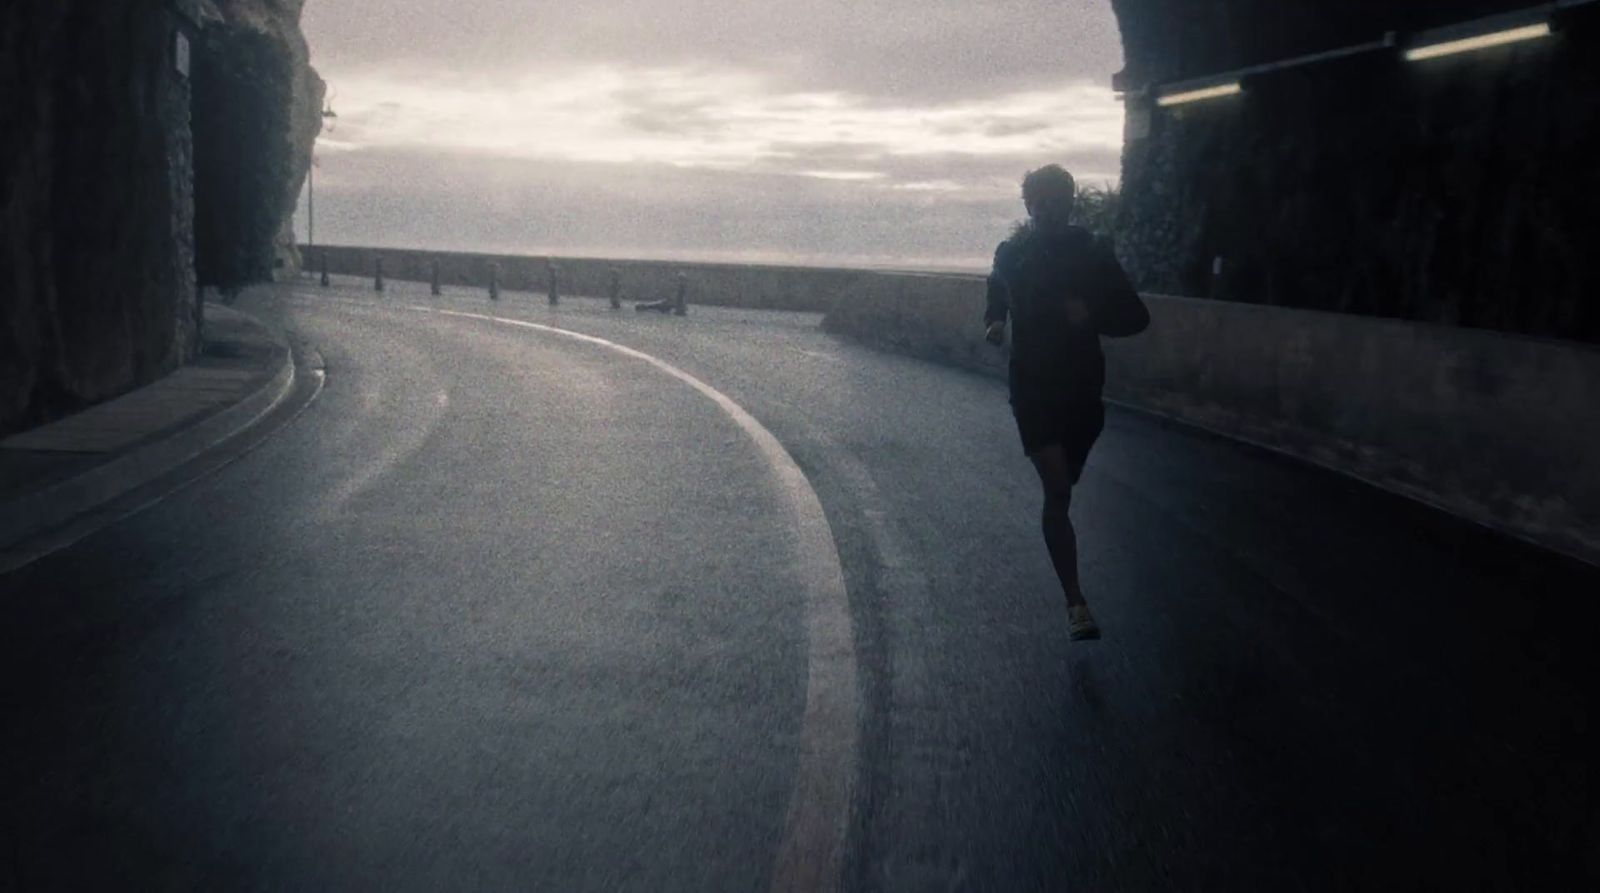
POLYGON ((325 158, 317 234, 395 248, 981 267, 1022 213, 1014 179, 1003 194, 930 184, 366 150, 325 158))

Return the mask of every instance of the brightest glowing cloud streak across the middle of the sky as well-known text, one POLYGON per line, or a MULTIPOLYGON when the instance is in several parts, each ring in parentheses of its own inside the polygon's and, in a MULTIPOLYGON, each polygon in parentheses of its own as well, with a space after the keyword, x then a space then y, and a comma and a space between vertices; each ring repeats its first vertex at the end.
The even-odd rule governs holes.
POLYGON ((712 67, 595 66, 515 82, 382 72, 342 88, 333 136, 344 142, 515 158, 882 173, 898 157, 1048 157, 1122 142, 1120 104, 1083 82, 902 106, 774 91, 755 72, 712 67))

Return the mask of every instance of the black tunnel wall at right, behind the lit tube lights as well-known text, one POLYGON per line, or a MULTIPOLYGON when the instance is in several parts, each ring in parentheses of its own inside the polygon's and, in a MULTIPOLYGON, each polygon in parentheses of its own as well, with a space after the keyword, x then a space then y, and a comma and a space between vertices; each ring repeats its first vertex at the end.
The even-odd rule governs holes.
MULTIPOLYGON (((1114 5, 1130 91, 1526 8, 1114 5)), ((1118 250, 1152 291, 1600 341, 1594 19, 1427 62, 1381 51, 1275 72, 1240 96, 1154 109, 1123 150, 1118 250)))

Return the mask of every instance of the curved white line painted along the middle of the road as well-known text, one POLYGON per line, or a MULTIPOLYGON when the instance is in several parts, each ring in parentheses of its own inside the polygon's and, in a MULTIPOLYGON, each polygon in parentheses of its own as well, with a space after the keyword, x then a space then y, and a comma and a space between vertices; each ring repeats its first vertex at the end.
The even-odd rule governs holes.
POLYGON ((782 485, 798 543, 795 565, 806 589, 806 696, 800 728, 800 765, 789 799, 784 837, 773 866, 774 891, 838 890, 843 885, 845 837, 854 799, 861 735, 861 696, 856 688, 856 648, 850 624, 845 568, 834 531, 811 482, 766 426, 731 397, 690 373, 614 341, 525 320, 394 306, 397 309, 462 317, 530 328, 595 344, 646 362, 717 403, 755 443, 782 485))

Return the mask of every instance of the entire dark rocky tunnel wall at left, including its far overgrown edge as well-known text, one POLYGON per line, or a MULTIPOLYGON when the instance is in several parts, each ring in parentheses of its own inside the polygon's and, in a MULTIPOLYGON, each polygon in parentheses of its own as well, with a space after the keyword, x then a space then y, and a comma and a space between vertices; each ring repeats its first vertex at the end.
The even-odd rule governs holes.
POLYGON ((192 358, 197 266, 274 274, 323 94, 299 13, 0 2, 0 434, 192 358))

